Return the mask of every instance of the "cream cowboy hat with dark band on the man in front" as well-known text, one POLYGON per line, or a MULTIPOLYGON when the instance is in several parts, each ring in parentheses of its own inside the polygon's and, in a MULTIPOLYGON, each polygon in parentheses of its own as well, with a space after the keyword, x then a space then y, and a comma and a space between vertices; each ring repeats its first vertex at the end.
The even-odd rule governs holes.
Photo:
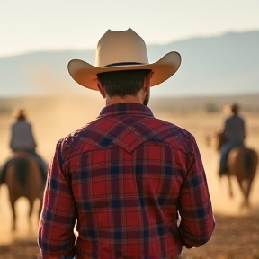
POLYGON ((154 72, 151 86, 154 86, 173 76, 180 64, 181 56, 175 51, 149 64, 146 43, 135 31, 108 30, 98 42, 95 67, 83 60, 73 59, 68 63, 68 72, 79 85, 98 91, 94 79, 99 73, 151 69, 154 72))

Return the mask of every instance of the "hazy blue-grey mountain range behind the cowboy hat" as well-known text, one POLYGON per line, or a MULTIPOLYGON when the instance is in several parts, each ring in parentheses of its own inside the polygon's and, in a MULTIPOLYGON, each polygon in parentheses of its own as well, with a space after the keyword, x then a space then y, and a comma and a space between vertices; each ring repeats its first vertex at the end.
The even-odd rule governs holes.
MULTIPOLYGON (((147 46, 149 62, 167 52, 182 55, 179 71, 159 87, 155 96, 259 94, 259 31, 210 38, 192 38, 147 46)), ((34 52, 0 58, 0 97, 86 94, 68 75, 67 63, 79 58, 94 64, 95 50, 34 52)))

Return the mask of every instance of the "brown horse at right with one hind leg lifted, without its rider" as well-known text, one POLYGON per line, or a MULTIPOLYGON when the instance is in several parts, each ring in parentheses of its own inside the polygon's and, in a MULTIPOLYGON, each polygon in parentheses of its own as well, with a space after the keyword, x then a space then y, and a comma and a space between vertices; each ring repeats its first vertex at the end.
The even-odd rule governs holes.
MULTIPOLYGON (((218 150, 226 143, 222 132, 217 133, 218 150)), ((242 206, 249 207, 249 195, 251 186, 255 178, 256 168, 258 164, 258 156, 254 149, 248 147, 234 147, 228 153, 228 185, 229 195, 233 196, 230 176, 234 175, 237 178, 237 183, 244 196, 242 206)))

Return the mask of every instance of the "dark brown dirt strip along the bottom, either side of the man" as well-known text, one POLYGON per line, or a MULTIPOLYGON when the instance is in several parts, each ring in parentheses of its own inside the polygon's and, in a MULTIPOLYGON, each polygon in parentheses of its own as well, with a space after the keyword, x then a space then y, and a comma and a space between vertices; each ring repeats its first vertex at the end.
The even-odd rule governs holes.
MULTIPOLYGON (((183 259, 258 259, 258 217, 216 215, 217 228, 210 242, 200 248, 184 249, 183 259)), ((0 258, 36 259, 39 247, 33 240, 17 239, 0 246, 0 258)))

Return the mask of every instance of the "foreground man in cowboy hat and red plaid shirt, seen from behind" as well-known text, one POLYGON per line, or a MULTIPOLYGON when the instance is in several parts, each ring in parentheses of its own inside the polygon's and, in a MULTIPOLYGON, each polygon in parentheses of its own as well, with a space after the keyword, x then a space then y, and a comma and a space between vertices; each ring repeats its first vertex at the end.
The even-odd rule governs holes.
POLYGON ((170 52, 148 64, 146 44, 131 29, 103 35, 96 67, 69 62, 70 75, 100 91, 106 107, 58 141, 40 219, 44 259, 173 259, 182 246, 210 239, 215 221, 195 139, 146 106, 150 86, 180 63, 170 52))

